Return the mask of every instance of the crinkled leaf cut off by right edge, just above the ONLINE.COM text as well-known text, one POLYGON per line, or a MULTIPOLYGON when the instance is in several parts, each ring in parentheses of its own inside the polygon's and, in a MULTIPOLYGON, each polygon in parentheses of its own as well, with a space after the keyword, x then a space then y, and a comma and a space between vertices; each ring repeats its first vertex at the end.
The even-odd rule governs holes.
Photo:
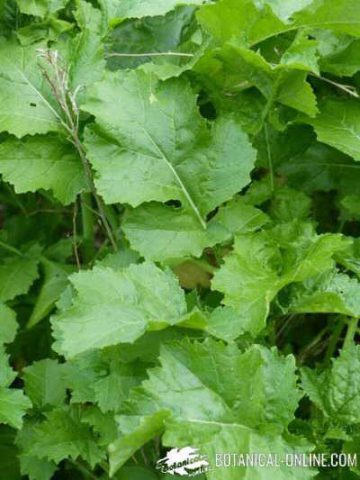
POLYGON ((360 422, 360 347, 343 349, 332 360, 331 368, 321 374, 308 368, 302 371, 306 394, 333 423, 345 425, 360 422))

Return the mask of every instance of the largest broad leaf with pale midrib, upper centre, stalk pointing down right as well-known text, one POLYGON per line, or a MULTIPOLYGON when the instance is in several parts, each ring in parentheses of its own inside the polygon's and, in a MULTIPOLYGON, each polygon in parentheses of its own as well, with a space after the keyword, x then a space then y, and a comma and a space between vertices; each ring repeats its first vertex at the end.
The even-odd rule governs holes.
POLYGON ((83 108, 96 117, 86 147, 107 203, 179 200, 205 228, 204 216, 249 182, 246 134, 231 118, 208 127, 184 80, 108 74, 83 108))

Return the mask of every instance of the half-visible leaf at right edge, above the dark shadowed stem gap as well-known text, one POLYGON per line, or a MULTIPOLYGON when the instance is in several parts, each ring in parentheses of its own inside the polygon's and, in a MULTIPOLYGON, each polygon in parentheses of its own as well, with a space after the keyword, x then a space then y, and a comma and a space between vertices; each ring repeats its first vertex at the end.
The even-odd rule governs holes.
POLYGON ((290 310, 360 317, 360 283, 336 272, 326 273, 320 279, 309 279, 292 292, 290 310))

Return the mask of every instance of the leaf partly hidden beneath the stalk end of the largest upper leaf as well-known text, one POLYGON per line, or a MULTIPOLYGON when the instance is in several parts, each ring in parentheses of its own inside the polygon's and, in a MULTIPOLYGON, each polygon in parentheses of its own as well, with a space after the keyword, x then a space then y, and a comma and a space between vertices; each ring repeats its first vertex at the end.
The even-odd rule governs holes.
POLYGON ((171 261, 199 257, 205 247, 254 231, 267 221, 263 212, 238 199, 221 207, 204 230, 186 211, 149 203, 128 211, 123 229, 132 247, 147 260, 171 261))

